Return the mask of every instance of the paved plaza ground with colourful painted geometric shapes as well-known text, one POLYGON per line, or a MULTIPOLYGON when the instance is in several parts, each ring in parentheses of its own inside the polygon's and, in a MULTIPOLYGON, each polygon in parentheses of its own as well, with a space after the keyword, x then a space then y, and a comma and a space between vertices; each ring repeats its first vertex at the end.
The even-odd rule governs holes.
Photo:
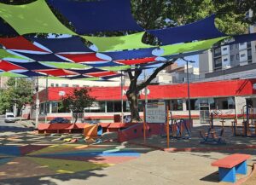
MULTIPOLYGON (((195 128, 198 134, 200 127, 195 128)), ((232 138, 225 131, 228 146, 255 145, 255 138, 232 138)), ((68 137, 80 138, 80 135, 68 137)), ((114 135, 106 135, 106 138, 114 135)), ((139 142, 136 140, 133 142, 139 142)), ((166 138, 153 136, 148 142, 166 146, 166 138), (153 139, 154 138, 154 139, 153 139)), ((175 140, 173 147, 211 147, 191 140, 175 140)), ((215 147, 215 146, 212 146, 215 147)), ((230 153, 249 153, 248 171, 256 163, 256 149, 168 153, 128 143, 65 143, 60 136, 35 135, 33 132, 0 133, 0 185, 159 185, 230 184, 218 182, 215 159, 230 153)), ((240 179, 243 176, 237 176, 240 179)), ((255 181, 248 185, 256 184, 255 181)))

